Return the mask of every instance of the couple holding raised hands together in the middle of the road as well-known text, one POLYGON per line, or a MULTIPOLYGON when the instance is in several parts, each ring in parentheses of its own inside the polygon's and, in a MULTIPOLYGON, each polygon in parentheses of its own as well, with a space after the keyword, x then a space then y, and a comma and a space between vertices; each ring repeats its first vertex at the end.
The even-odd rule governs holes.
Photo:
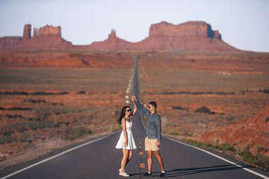
POLYGON ((148 172, 144 176, 150 176, 152 166, 152 153, 157 158, 159 166, 161 168, 160 177, 164 177, 166 171, 164 171, 164 162, 159 154, 159 146, 161 146, 161 117, 157 114, 157 105, 155 102, 149 102, 148 109, 144 108, 135 96, 132 96, 132 103, 134 104, 134 111, 132 112, 130 106, 124 106, 121 110, 118 123, 122 125, 122 132, 120 139, 116 145, 116 149, 122 149, 122 161, 120 166, 120 174, 128 177, 125 173, 125 166, 130 162, 132 158, 132 150, 136 149, 135 140, 132 137, 132 116, 137 112, 137 108, 142 110, 147 116, 147 130, 145 137, 145 151, 147 151, 147 166, 148 172))

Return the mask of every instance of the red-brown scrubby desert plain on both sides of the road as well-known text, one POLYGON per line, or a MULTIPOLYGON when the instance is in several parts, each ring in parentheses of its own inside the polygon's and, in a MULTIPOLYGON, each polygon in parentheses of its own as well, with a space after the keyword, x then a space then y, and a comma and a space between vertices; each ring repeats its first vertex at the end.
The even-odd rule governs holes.
MULTIPOLYGON (((62 55, 71 56, 55 57, 62 55)), ((131 96, 126 89, 136 55, 140 100, 144 105, 156 101, 164 135, 268 156, 268 55, 82 52, 94 65, 1 67, 1 168, 120 130, 116 119, 125 96, 131 96), (263 130, 256 126, 260 123, 247 129, 258 135, 256 142, 225 141, 216 133, 218 127, 238 127, 261 110, 263 130)))

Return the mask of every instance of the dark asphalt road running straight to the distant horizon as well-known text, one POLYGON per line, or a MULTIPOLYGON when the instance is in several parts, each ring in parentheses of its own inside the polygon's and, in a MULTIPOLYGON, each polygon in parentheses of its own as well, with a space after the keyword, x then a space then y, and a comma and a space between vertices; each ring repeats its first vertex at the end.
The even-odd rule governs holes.
MULTIPOLYGON (((139 57, 135 57, 132 94, 139 98, 138 59, 139 57)), ((144 151, 145 128, 142 114, 137 112, 132 122, 137 149, 134 150, 126 172, 130 174, 130 178, 145 178, 142 174, 147 172, 147 158, 144 151)), ((115 145, 119 137, 120 132, 114 132, 90 142, 53 151, 33 161, 1 170, 0 179, 124 178, 118 175, 122 151, 115 149, 115 145)), ((248 166, 234 158, 221 156, 213 151, 190 146, 164 136, 161 139, 160 154, 166 169, 165 178, 258 179, 269 176, 268 172, 248 166)), ((154 178, 159 178, 160 168, 154 156, 152 172, 154 178)))

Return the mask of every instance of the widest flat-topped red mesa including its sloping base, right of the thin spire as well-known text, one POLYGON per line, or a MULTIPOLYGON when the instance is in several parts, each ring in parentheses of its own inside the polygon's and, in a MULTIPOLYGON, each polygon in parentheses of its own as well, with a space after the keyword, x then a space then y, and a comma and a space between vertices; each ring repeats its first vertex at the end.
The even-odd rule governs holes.
POLYGON ((155 51, 238 51, 225 43, 219 31, 212 30, 211 25, 204 21, 153 24, 149 28, 149 37, 137 46, 155 51))

